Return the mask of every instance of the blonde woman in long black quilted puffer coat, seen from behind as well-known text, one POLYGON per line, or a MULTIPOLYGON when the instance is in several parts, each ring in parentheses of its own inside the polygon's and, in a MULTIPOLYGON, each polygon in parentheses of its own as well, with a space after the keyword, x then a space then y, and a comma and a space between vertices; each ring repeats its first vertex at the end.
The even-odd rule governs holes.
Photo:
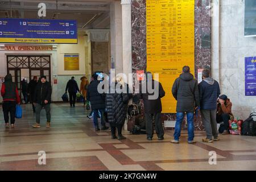
POLYGON ((129 86, 123 83, 122 77, 116 77, 115 83, 112 84, 115 84, 115 86, 117 84, 121 84, 120 86, 117 85, 117 87, 121 89, 124 88, 126 90, 126 92, 122 93, 117 93, 117 90, 115 90, 115 93, 110 92, 106 94, 106 110, 108 113, 108 121, 111 126, 112 139, 126 139, 126 137, 123 137, 122 135, 122 127, 125 123, 128 111, 128 102, 130 98, 133 97, 133 94, 129 91, 129 86), (116 129, 118 137, 115 135, 116 129))

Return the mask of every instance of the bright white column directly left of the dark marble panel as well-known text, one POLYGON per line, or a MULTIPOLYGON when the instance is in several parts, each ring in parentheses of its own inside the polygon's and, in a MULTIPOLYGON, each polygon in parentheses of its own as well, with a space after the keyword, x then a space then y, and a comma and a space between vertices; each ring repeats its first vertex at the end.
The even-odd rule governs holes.
POLYGON ((131 0, 122 0, 123 73, 131 73, 131 0))

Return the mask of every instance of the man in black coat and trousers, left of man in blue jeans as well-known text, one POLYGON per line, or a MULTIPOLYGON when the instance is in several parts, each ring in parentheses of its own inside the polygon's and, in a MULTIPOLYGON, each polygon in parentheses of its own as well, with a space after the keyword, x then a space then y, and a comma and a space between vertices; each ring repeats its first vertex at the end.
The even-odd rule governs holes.
POLYGON ((161 112, 162 112, 162 97, 165 96, 165 92, 163 86, 160 82, 153 80, 152 73, 147 72, 146 78, 143 80, 142 87, 146 86, 146 92, 143 93, 143 89, 141 88, 141 94, 139 94, 139 98, 142 98, 144 103, 144 113, 146 118, 146 133, 147 140, 152 140, 153 138, 153 126, 152 119, 155 117, 155 130, 158 135, 158 140, 164 139, 164 130, 161 122, 161 112), (151 88, 154 89, 153 93, 148 91, 148 84, 151 85, 151 88), (156 90, 157 89, 157 90, 156 90), (153 98, 154 94, 157 94, 156 98, 153 98), (152 98, 151 98, 152 97, 152 98))

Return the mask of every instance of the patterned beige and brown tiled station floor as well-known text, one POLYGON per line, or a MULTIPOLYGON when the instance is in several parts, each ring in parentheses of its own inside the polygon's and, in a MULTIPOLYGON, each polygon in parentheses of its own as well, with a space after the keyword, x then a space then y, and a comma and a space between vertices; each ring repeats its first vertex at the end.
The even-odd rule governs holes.
POLYGON ((23 105, 23 118, 15 129, 5 129, 0 113, 0 170, 256 170, 256 137, 220 135, 221 140, 203 143, 204 132, 197 131, 197 143, 172 144, 168 130, 163 141, 156 135, 123 134, 126 140, 111 139, 110 131, 94 132, 88 111, 81 104, 52 104, 52 124, 47 129, 44 110, 42 127, 34 129, 31 105, 23 105), (46 165, 39 165, 39 151, 46 152, 46 165), (209 164, 215 151, 217 164, 209 164))

